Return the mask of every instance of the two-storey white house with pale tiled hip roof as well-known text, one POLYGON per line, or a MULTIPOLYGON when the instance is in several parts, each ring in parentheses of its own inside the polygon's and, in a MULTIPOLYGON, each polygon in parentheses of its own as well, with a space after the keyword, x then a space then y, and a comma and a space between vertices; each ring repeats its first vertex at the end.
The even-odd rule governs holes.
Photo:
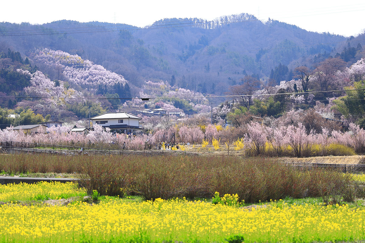
POLYGON ((111 132, 139 133, 143 127, 139 126, 141 117, 127 112, 107 112, 90 118, 92 124, 98 124, 103 128, 110 128, 111 132))

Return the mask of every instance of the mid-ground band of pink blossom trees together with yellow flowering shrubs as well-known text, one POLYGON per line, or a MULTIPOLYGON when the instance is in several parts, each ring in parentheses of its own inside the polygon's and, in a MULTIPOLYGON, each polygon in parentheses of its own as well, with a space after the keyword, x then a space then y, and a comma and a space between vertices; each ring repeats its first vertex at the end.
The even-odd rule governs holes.
MULTIPOLYGON (((348 132, 333 130, 322 127, 322 132, 316 133, 311 130, 307 133, 303 124, 278 125, 268 127, 257 122, 251 122, 247 126, 247 134, 237 138, 240 128, 226 128, 219 133, 216 126, 208 125, 204 133, 202 126, 176 125, 167 129, 157 129, 151 134, 130 136, 127 134, 112 134, 109 129, 105 130, 94 126, 87 136, 81 133, 70 132, 72 125, 48 128, 47 134, 25 134, 23 131, 12 130, 12 127, 0 130, 0 141, 37 142, 40 144, 59 144, 82 147, 115 148, 128 150, 143 150, 156 148, 159 142, 190 142, 201 143, 201 148, 206 148, 210 143, 215 150, 219 150, 220 141, 227 142, 235 150, 244 150, 249 156, 265 154, 267 156, 326 156, 326 155, 353 155, 355 152, 365 151, 365 131, 356 124, 350 124, 348 132), (237 132, 238 131, 238 132, 237 132), (229 144, 228 141, 234 141, 229 144)), ((180 148, 179 148, 180 149, 180 148)), ((209 148, 211 149, 211 148, 209 148)), ((208 149, 208 150, 209 150, 208 149)))

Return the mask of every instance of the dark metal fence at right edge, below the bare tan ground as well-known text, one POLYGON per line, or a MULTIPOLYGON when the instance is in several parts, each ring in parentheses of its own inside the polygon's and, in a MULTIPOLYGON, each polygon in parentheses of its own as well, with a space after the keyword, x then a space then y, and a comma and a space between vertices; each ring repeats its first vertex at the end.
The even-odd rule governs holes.
POLYGON ((346 165, 346 164, 323 164, 323 163, 283 163, 292 166, 300 171, 310 171, 312 169, 329 169, 343 173, 364 174, 365 165, 346 165))

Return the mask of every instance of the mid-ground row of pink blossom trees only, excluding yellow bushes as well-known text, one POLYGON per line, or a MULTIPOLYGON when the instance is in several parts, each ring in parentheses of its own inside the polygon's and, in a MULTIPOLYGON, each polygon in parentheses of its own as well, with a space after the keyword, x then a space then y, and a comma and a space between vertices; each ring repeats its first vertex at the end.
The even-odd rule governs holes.
MULTIPOLYGON (((71 146, 97 146, 113 147, 119 149, 146 149, 146 146, 154 147, 158 142, 190 142, 200 144, 204 138, 211 142, 212 138, 219 139, 222 131, 217 132, 216 126, 205 127, 205 134, 199 126, 180 125, 169 126, 166 129, 157 129, 154 134, 130 136, 126 134, 112 134, 110 129, 103 129, 99 125, 88 135, 70 132, 70 127, 51 127, 48 133, 39 131, 37 134, 25 134, 23 131, 13 130, 12 127, 0 130, 0 141, 37 142, 41 144, 58 144, 71 146)), ((223 129, 228 133, 234 129, 223 129)), ((226 134, 227 135, 227 134, 226 134)), ((231 134, 228 134, 229 136, 231 134)), ((227 136, 226 136, 227 137, 227 136)), ((226 140, 223 136, 223 139, 226 140)), ((321 145, 326 150, 329 144, 341 144, 353 148, 356 152, 365 152, 365 130, 356 124, 350 124, 348 132, 333 130, 331 133, 322 128, 321 133, 314 130, 308 134, 306 128, 300 122, 297 125, 278 125, 268 127, 257 122, 247 125, 247 133, 243 136, 245 150, 254 153, 264 153, 267 144, 272 145, 277 155, 280 156, 284 148, 291 147, 300 157, 303 150, 311 145, 321 145)))

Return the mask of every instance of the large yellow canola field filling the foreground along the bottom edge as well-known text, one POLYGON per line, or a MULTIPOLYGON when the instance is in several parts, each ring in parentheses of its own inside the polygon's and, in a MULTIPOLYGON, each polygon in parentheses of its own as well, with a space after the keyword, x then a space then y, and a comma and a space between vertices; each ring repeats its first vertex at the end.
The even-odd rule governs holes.
MULTIPOLYGON (((227 195, 235 197, 235 195, 227 195)), ((364 240, 365 209, 271 202, 251 209, 176 199, 0 206, 1 242, 245 242, 364 240)))

